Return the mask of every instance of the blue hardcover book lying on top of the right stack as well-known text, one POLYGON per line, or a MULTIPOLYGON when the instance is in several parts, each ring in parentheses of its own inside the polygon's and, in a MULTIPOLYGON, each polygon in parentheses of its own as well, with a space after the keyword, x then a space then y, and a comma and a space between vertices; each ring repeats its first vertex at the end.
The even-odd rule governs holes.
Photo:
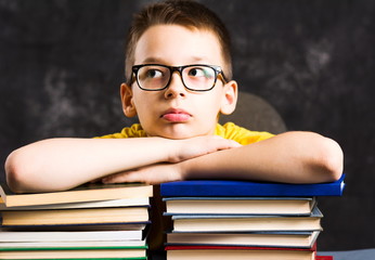
POLYGON ((287 184, 275 182, 193 180, 160 184, 165 197, 241 197, 241 196, 341 196, 345 174, 335 182, 314 184, 287 184))

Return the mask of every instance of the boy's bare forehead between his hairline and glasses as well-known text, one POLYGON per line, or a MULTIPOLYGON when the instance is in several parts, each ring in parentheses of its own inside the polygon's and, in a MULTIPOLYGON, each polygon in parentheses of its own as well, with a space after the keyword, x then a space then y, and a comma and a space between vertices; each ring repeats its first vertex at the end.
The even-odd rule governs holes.
POLYGON ((155 25, 139 39, 134 64, 186 65, 204 63, 223 66, 221 44, 207 29, 180 25, 155 25))

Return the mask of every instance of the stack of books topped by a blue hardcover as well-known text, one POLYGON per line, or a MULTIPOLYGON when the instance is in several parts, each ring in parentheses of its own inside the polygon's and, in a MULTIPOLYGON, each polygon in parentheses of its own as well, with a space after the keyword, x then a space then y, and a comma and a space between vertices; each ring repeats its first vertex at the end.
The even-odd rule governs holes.
POLYGON ((172 222, 167 259, 329 259, 316 256, 323 217, 316 197, 340 196, 342 190, 344 176, 320 184, 163 183, 164 214, 172 222))

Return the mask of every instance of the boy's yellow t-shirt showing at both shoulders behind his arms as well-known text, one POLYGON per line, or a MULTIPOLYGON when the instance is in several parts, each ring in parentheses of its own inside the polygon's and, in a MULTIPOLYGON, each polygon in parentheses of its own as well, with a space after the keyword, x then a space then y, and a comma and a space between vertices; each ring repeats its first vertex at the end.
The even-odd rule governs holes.
MULTIPOLYGON (((246 128, 238 127, 233 122, 227 122, 225 125, 217 125, 215 134, 224 139, 234 140, 242 145, 256 143, 269 138, 273 134, 269 132, 250 131, 246 128)), ((125 139, 125 138, 145 138, 146 132, 142 129, 140 123, 134 123, 131 127, 124 128, 118 133, 112 133, 103 135, 103 139, 125 139)))

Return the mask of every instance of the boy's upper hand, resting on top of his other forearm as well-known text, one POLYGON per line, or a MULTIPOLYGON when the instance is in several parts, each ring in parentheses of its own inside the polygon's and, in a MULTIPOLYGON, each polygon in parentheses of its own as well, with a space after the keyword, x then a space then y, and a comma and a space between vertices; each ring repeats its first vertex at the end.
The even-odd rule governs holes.
POLYGON ((242 146, 233 140, 223 139, 218 135, 196 136, 177 140, 177 142, 180 145, 177 145, 177 150, 172 151, 172 154, 169 156, 169 162, 179 162, 221 150, 242 146))

